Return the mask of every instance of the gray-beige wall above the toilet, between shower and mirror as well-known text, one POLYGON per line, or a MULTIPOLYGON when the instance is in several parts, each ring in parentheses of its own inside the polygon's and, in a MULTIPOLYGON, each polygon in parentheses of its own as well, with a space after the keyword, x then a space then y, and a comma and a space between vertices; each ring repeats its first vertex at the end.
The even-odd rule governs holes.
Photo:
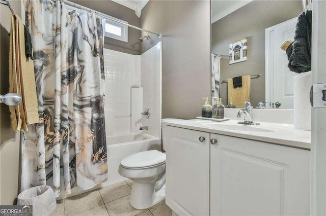
MULTIPOLYGON (((164 35, 162 118, 200 116, 201 98, 210 97, 210 2, 149 1, 141 27, 164 35)), ((142 43, 141 53, 159 41, 151 37, 142 43)))

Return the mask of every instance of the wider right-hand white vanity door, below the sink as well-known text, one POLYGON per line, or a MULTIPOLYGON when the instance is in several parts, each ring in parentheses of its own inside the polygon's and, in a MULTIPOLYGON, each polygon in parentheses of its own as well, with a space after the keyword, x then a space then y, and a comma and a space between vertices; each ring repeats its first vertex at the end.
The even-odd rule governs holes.
POLYGON ((211 215, 309 215, 310 151, 210 138, 211 215))

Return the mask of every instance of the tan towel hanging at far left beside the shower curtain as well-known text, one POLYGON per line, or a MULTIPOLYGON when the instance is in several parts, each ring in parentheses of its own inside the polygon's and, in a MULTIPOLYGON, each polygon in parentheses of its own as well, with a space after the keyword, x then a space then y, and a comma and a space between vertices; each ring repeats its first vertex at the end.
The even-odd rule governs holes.
POLYGON ((10 31, 9 92, 22 97, 19 105, 10 107, 12 127, 15 131, 27 131, 27 125, 39 121, 34 63, 26 57, 25 27, 15 15, 10 31))

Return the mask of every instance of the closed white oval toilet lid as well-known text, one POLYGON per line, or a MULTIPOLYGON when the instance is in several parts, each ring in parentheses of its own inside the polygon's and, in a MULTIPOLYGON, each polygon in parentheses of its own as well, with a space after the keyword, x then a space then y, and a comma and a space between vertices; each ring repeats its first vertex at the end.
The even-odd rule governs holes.
POLYGON ((121 165, 125 168, 145 168, 152 167, 166 160, 166 155, 157 150, 150 150, 144 152, 138 152, 129 155, 121 161, 121 165))

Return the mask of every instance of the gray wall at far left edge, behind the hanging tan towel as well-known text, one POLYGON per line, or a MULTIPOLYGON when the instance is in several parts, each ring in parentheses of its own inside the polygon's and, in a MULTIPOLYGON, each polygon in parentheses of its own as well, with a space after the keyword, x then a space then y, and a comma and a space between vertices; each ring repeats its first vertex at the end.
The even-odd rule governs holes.
MULTIPOLYGON (((16 14, 21 13, 20 1, 12 1, 16 14)), ((9 90, 9 32, 11 12, 0 5, 0 94, 9 90)), ((19 133, 11 127, 9 108, 0 103, 0 204, 12 205, 18 195, 19 133)))

